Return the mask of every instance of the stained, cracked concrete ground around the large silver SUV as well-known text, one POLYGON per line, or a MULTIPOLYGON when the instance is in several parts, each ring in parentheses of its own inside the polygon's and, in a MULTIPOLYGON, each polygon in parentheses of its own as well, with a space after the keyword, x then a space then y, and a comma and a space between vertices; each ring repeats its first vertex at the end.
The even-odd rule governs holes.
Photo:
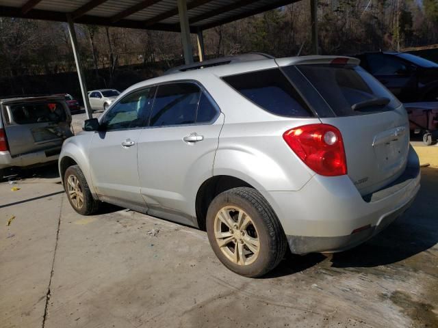
POLYGON ((0 327, 438 327, 438 168, 372 240, 263 279, 228 271, 205 232, 77 215, 55 166, 16 181, 0 183, 0 327))

